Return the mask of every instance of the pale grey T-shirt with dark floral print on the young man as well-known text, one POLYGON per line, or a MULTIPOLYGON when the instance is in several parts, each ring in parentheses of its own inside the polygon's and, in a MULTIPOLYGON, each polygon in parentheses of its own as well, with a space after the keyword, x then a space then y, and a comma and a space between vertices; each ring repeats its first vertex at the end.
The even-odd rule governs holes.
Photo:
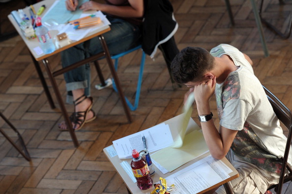
POLYGON ((229 55, 239 67, 215 88, 220 125, 238 130, 231 149, 247 162, 279 173, 287 138, 252 66, 231 45, 221 44, 210 54, 229 55))

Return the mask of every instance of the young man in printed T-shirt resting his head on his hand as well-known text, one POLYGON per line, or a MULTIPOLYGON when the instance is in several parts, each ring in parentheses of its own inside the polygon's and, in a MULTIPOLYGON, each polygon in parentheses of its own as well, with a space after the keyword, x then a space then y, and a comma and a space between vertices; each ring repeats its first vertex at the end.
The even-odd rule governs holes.
MULTIPOLYGON (((239 173, 229 182, 234 194, 264 194, 278 183, 287 141, 252 64, 235 47, 221 44, 210 53, 187 47, 175 56, 171 66, 174 80, 190 87, 185 100, 188 95, 195 97, 212 157, 226 157, 239 173), (209 100, 214 93, 219 129, 210 111, 209 100)), ((210 192, 226 193, 223 186, 210 192)))

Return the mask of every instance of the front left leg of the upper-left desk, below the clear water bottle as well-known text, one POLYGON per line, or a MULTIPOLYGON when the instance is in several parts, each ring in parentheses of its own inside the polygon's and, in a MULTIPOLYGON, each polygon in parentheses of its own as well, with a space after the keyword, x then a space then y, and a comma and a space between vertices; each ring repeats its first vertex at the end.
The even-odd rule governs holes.
POLYGON ((64 102, 62 100, 62 96, 61 96, 60 91, 58 89, 58 85, 57 85, 56 80, 55 80, 55 78, 54 78, 54 76, 52 74, 52 70, 50 68, 49 62, 48 62, 47 59, 43 59, 42 61, 43 61, 44 65, 45 65, 45 68, 46 68, 46 71, 48 73, 49 79, 50 79, 50 81, 52 83, 52 86, 53 86, 53 89, 55 91, 55 94, 56 94, 60 109, 62 111, 64 120, 65 120, 65 122, 67 124, 67 127, 68 127, 68 130, 69 130, 71 139, 73 140, 74 146, 78 147, 79 146, 79 142, 78 142, 78 140, 76 138, 75 131, 74 131, 73 127, 72 127, 72 123, 71 123, 71 121, 69 119, 69 116, 68 116, 68 113, 66 111, 66 107, 64 105, 64 102))

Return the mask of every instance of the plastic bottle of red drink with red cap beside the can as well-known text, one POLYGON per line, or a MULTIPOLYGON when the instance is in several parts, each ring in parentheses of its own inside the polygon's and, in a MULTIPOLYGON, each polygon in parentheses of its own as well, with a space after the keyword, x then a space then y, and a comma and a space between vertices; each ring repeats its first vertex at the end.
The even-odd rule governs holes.
POLYGON ((132 151, 131 168, 137 180, 137 185, 141 190, 151 188, 153 181, 150 177, 149 167, 146 160, 142 158, 136 149, 132 151))

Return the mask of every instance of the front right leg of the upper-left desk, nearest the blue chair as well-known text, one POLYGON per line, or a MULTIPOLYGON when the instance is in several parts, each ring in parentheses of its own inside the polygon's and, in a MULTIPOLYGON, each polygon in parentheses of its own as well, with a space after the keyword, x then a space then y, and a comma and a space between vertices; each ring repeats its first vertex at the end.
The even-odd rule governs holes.
POLYGON ((103 50, 105 52, 105 56, 107 58, 107 62, 109 64, 112 76, 113 76, 114 81, 116 83, 118 95, 119 95, 120 100, 122 101, 122 105, 123 105, 124 111, 126 112, 127 119, 128 119, 129 122, 132 122, 132 116, 130 114, 129 107, 128 107, 127 103, 126 103, 126 100, 125 100, 125 97, 124 97, 124 93, 123 93, 123 91, 122 91, 122 89, 120 87, 120 83, 119 83, 119 80, 118 80, 118 77, 117 77, 117 72, 115 70, 112 58, 111 58, 111 56, 109 54, 108 46, 107 46, 107 44, 106 44, 106 42, 104 40, 103 35, 99 35, 98 38, 99 38, 99 40, 101 42, 101 45, 102 45, 102 48, 103 48, 103 50))

